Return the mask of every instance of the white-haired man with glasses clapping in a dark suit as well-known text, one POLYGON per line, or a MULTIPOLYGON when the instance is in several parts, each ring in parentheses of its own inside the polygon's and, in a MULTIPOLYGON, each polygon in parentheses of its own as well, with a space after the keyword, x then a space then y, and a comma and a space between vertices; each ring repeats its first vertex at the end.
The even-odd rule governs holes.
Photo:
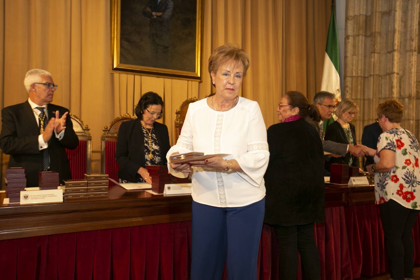
POLYGON ((79 139, 68 109, 53 105, 54 84, 45 70, 29 70, 24 79, 29 98, 2 110, 0 148, 10 155, 8 167, 24 167, 26 186, 38 186, 39 171, 56 171, 60 183, 71 178, 65 149, 75 149, 79 139))

